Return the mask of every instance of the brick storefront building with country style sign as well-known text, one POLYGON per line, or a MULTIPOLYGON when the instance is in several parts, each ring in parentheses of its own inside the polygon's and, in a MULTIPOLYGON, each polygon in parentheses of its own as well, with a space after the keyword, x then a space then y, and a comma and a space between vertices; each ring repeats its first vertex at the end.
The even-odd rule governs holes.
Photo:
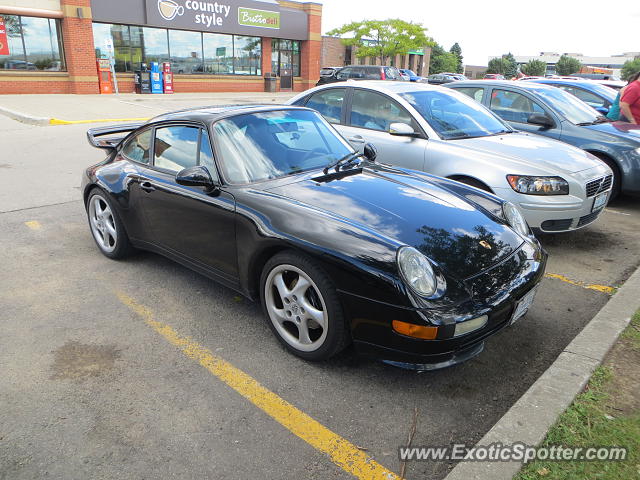
POLYGON ((176 92, 303 91, 320 72, 322 6, 288 0, 0 0, 0 94, 99 92, 113 58, 134 71, 170 62, 176 92))

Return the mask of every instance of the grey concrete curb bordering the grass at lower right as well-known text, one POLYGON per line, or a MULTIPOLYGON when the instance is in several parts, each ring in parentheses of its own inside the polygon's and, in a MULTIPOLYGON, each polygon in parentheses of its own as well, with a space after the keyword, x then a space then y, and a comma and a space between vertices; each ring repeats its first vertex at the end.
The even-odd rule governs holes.
MULTIPOLYGON (((478 445, 539 445, 629 324, 640 307, 638 292, 640 268, 478 445)), ((461 462, 445 480, 510 480, 521 467, 520 462, 461 462)))

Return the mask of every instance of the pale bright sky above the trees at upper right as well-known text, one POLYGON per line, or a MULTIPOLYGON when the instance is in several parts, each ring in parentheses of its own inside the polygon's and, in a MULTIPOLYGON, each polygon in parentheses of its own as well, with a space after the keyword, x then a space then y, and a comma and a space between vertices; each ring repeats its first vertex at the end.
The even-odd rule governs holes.
POLYGON ((422 23, 446 50, 460 44, 464 63, 540 52, 610 56, 640 52, 640 0, 315 0, 322 33, 360 20, 422 23), (609 7, 611 5, 611 7, 609 7))

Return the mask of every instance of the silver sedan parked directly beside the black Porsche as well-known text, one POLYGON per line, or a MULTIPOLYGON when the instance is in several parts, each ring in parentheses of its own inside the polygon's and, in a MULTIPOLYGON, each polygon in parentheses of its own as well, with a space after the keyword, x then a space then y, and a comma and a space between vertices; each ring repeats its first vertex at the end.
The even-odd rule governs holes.
POLYGON ((595 221, 613 173, 581 149, 514 130, 466 95, 433 85, 332 83, 293 97, 319 111, 357 149, 372 143, 378 160, 421 170, 515 203, 529 225, 565 232, 595 221))

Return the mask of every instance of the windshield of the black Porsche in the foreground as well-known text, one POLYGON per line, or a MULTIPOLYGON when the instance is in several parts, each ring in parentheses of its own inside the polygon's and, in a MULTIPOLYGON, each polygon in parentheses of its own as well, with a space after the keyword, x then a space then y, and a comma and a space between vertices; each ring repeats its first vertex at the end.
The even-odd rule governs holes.
POLYGON ((213 131, 230 183, 324 168, 353 152, 316 112, 278 110, 220 120, 213 131))

